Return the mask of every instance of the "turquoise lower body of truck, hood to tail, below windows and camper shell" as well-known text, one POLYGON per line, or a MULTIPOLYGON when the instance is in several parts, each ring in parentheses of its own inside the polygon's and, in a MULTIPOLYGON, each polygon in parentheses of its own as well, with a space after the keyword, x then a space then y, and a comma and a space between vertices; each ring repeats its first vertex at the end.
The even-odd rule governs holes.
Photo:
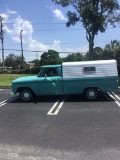
POLYGON ((12 81, 13 91, 18 87, 29 87, 36 95, 81 94, 85 88, 96 87, 104 92, 117 91, 117 77, 64 79, 62 77, 21 77, 12 81), (63 85, 63 86, 62 86, 63 85))

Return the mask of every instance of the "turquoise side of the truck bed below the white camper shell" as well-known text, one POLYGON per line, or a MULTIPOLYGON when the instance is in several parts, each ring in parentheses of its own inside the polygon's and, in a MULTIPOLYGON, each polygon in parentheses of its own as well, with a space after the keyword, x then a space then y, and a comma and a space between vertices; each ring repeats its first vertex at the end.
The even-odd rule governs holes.
POLYGON ((64 94, 81 94, 85 88, 100 88, 104 92, 118 90, 118 77, 63 79, 64 94))

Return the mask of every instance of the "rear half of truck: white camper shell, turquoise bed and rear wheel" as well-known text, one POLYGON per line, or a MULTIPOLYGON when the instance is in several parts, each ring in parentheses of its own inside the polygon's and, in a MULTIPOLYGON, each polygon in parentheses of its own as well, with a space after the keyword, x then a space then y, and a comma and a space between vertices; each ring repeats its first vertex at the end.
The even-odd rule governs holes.
POLYGON ((116 60, 64 62, 62 74, 65 94, 84 93, 88 99, 96 99, 100 90, 118 90, 116 60))

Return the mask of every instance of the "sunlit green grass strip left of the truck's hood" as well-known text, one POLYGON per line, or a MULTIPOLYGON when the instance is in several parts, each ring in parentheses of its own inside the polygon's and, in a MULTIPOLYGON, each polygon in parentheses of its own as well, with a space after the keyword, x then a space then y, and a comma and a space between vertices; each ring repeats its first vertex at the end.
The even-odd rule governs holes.
POLYGON ((23 76, 31 76, 29 74, 0 74, 0 88, 11 87, 12 80, 23 77, 23 76))

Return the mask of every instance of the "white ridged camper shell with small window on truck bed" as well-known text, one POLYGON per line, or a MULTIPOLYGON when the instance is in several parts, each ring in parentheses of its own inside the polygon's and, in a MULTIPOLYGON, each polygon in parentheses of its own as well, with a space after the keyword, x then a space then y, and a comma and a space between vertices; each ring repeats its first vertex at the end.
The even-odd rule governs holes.
POLYGON ((64 78, 118 76, 116 60, 62 63, 64 78))

